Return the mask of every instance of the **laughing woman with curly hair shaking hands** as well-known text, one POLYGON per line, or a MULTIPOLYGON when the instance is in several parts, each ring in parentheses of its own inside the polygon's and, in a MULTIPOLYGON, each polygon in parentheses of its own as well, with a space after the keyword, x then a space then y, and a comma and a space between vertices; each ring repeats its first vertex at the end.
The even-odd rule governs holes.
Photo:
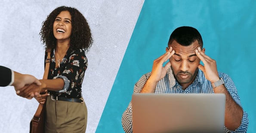
POLYGON ((84 133, 87 108, 81 87, 87 68, 85 51, 93 43, 89 25, 77 9, 61 6, 43 22, 40 35, 46 51, 51 51, 48 79, 28 90, 47 92, 35 97, 46 103, 45 133, 84 133))

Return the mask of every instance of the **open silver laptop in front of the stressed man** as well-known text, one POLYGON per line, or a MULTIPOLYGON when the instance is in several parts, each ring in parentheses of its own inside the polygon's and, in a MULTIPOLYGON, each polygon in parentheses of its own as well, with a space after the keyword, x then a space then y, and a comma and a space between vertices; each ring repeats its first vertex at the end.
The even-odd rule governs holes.
POLYGON ((132 96, 133 133, 223 133, 224 94, 132 96))

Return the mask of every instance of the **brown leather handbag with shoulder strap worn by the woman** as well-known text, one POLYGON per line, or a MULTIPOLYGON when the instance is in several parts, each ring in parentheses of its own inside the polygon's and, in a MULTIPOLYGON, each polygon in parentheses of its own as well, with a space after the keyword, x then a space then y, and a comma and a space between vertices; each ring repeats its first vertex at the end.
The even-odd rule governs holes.
MULTIPOLYGON (((50 67, 50 54, 51 49, 47 49, 47 59, 45 60, 46 66, 43 74, 43 79, 48 78, 49 67, 50 67)), ((45 109, 46 101, 44 104, 40 104, 37 107, 37 111, 34 114, 34 117, 30 121, 30 130, 29 133, 44 133, 44 120, 45 120, 45 109)))

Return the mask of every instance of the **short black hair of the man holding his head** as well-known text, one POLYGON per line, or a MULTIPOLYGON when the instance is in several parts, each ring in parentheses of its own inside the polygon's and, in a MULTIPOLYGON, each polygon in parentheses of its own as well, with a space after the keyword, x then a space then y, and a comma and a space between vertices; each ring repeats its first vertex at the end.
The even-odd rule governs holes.
POLYGON ((177 41, 182 46, 189 46, 194 41, 198 41, 198 44, 203 47, 203 40, 197 29, 193 27, 178 27, 170 35, 168 42, 168 47, 172 44, 173 41, 177 41))

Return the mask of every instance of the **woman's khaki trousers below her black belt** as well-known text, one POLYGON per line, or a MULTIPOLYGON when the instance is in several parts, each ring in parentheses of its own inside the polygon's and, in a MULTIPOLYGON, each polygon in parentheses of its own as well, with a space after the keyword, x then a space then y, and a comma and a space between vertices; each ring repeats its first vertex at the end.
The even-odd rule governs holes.
POLYGON ((85 103, 52 100, 51 96, 47 97, 45 133, 85 133, 86 124, 85 103))

